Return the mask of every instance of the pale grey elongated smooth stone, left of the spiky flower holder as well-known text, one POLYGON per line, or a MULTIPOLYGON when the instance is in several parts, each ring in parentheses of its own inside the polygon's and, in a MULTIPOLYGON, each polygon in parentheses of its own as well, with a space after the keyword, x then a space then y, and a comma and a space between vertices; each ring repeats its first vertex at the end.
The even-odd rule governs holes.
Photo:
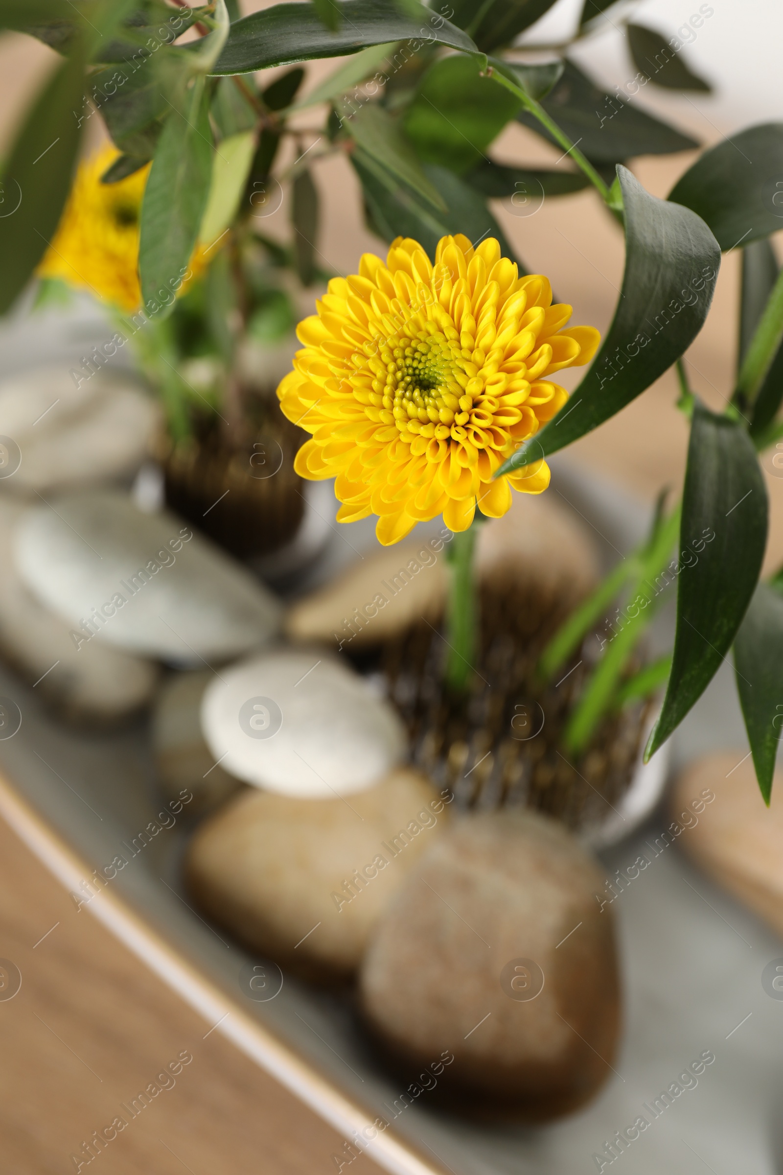
POLYGON ((14 558, 35 596, 73 625, 74 643, 81 630, 85 640, 201 665, 264 645, 278 627, 278 602, 244 568, 181 518, 142 513, 115 490, 31 509, 14 558))

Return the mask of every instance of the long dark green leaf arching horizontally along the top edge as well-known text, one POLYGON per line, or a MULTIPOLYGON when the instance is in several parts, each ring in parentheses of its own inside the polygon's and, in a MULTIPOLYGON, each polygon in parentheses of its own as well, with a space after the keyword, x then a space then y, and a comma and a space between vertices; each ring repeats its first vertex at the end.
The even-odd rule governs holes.
MULTIPOLYGON (((369 45, 389 41, 478 52, 461 29, 424 7, 416 20, 400 15, 393 0, 343 0, 339 9, 343 22, 338 33, 324 28, 312 4, 281 4, 255 12, 231 26, 212 73, 255 73, 296 61, 358 53, 369 45)), ((409 49, 409 55, 413 52, 409 49)))

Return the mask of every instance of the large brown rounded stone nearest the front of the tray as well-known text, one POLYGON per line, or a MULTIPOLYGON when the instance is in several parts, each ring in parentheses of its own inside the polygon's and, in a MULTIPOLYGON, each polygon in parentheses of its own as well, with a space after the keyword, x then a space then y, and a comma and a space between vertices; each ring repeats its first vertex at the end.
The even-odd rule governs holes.
POLYGON ((452 1106, 479 1116, 538 1122, 588 1101, 620 1026, 603 880, 533 813, 466 817, 431 846, 360 972, 364 1014, 400 1073, 418 1081, 428 1068, 452 1106))

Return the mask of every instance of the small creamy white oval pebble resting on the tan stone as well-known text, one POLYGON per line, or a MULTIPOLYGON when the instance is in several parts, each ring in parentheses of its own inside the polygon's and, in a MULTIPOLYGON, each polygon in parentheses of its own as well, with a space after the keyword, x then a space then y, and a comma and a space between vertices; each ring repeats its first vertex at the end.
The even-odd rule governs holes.
POLYGON ((317 652, 283 650, 222 671, 204 693, 201 726, 225 771, 298 797, 363 791, 406 743, 392 706, 317 652))

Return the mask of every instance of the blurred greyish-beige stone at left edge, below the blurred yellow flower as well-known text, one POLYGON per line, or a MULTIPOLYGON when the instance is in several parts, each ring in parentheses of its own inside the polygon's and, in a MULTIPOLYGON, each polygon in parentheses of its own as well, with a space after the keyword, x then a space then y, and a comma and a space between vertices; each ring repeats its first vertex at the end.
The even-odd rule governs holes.
POLYGON ((149 451, 160 405, 121 374, 96 372, 79 388, 65 364, 33 368, 0 383, 0 434, 21 464, 0 489, 46 492, 133 474, 149 451))

